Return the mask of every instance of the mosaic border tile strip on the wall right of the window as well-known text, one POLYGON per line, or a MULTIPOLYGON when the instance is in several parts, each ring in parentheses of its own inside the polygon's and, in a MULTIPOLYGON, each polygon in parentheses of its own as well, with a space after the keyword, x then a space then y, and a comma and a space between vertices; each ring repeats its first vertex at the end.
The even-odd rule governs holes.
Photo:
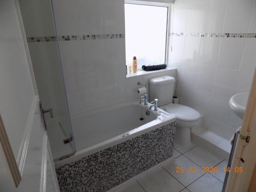
POLYGON ((170 36, 256 38, 256 33, 170 33, 170 36))

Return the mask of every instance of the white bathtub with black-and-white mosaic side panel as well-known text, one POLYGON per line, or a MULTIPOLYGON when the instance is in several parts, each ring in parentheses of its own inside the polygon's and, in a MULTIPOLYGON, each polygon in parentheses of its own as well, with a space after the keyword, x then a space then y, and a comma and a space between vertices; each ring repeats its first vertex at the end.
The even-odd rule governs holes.
POLYGON ((127 103, 76 118, 77 152, 55 163, 61 192, 106 191, 172 157, 176 118, 161 109, 127 103))

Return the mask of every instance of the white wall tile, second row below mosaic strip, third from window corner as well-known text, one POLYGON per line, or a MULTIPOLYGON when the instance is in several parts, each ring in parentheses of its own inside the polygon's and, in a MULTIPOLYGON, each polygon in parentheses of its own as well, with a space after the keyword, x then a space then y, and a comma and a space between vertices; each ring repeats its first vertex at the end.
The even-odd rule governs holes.
POLYGON ((196 87, 212 93, 214 90, 215 74, 216 67, 199 65, 196 87))

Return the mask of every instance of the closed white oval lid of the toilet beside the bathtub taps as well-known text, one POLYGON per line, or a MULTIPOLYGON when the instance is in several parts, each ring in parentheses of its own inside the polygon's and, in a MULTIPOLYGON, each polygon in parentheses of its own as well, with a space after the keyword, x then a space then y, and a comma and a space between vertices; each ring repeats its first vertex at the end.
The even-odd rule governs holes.
POLYGON ((182 104, 170 103, 164 106, 164 110, 175 115, 181 121, 197 121, 201 117, 198 111, 182 104))

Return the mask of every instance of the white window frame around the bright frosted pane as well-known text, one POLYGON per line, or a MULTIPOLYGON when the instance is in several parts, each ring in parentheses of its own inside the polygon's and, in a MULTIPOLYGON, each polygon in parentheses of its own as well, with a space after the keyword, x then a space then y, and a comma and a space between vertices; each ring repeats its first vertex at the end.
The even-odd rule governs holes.
MULTIPOLYGON (((170 17, 171 17, 171 9, 172 4, 162 3, 162 2, 153 2, 151 0, 124 0, 124 4, 134 4, 134 5, 147 5, 147 6, 156 6, 156 7, 167 7, 167 24, 166 24, 166 41, 165 41, 165 58, 164 64, 167 65, 168 62, 168 53, 169 53, 169 34, 170 34, 170 17)), ((125 16, 125 15, 124 15, 125 16)), ((125 24, 124 24, 125 25, 125 24)), ((138 69, 137 71, 141 71, 142 69, 138 69)))

